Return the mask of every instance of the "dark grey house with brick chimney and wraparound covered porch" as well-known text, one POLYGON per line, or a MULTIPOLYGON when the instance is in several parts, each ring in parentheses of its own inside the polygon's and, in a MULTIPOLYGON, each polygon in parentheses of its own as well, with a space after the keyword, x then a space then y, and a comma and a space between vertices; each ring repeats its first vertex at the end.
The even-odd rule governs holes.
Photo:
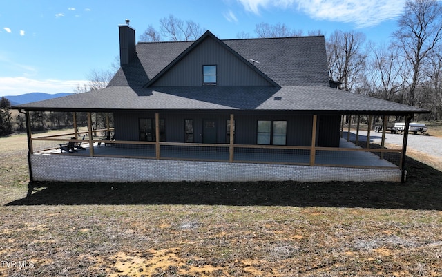
POLYGON ((406 135, 402 149, 360 147, 349 140, 351 124, 345 140, 343 119, 409 123, 427 111, 331 88, 323 36, 221 40, 207 31, 196 41, 135 45, 127 23, 119 45, 121 68, 106 88, 15 107, 27 122, 31 111, 88 114, 84 133, 28 133, 31 180, 405 180, 406 135), (93 135, 92 113, 113 117, 104 141, 93 135), (86 151, 60 151, 70 137, 86 151))

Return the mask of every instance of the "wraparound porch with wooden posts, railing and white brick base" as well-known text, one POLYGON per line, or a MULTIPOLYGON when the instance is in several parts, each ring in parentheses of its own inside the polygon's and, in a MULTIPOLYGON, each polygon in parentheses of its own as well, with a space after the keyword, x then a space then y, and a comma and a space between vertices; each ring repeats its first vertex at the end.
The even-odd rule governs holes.
MULTIPOLYGON (((90 117, 90 113, 88 116, 90 117)), ((160 137, 158 135, 159 118, 159 113, 156 113, 157 138, 160 137)), ((351 126, 351 124, 348 124, 348 129, 344 130, 344 116, 339 147, 319 147, 315 143, 316 119, 317 115, 313 115, 311 146, 235 144, 233 143, 233 136, 231 136, 230 143, 227 144, 160 142, 159 139, 155 142, 112 140, 110 134, 115 133, 116 130, 111 124, 108 124, 106 128, 93 130, 89 120, 88 129, 83 132, 77 131, 78 128, 75 126, 73 133, 64 133, 57 136, 32 136, 32 134, 29 134, 31 174, 36 178, 35 180, 60 180, 60 178, 63 180, 63 176, 66 176, 67 181, 96 181, 94 178, 90 179, 90 176, 96 175, 97 172, 113 174, 125 169, 121 175, 126 177, 116 181, 179 181, 202 180, 201 177, 191 178, 189 176, 198 176, 197 172, 200 171, 206 173, 209 171, 218 172, 227 166, 224 171, 237 172, 236 169, 242 168, 247 171, 246 175, 248 177, 244 179, 241 174, 235 173, 232 175, 232 173, 229 173, 230 175, 225 175, 225 177, 219 175, 215 181, 229 178, 238 181, 267 180, 267 175, 272 175, 267 172, 269 169, 272 172, 280 172, 278 177, 273 176, 273 180, 313 180, 316 182, 329 180, 405 181, 405 171, 403 170, 404 147, 402 149, 386 149, 383 143, 376 148, 370 146, 369 133, 372 129, 371 126, 367 126, 367 143, 365 145, 361 144, 361 139, 358 136, 358 131, 361 129, 360 125, 351 126), (102 137, 94 135, 100 132, 107 135, 102 137), (356 137, 356 140, 351 141, 350 137, 356 137), (67 142, 75 142, 79 147, 75 148, 75 151, 62 151, 60 144, 66 144, 67 142), (361 147, 361 145, 363 146, 361 147), (66 166, 72 164, 73 167, 80 165, 82 167, 84 164, 88 164, 88 166, 81 170, 83 171, 81 174, 71 175, 68 170, 60 169, 60 163, 66 164, 66 166), (52 169, 51 164, 53 164, 52 169), (140 171, 151 171, 151 173, 146 177, 146 172, 140 175, 140 171, 128 169, 123 164, 136 164, 133 166, 134 169, 137 166, 142 166, 140 171), (160 165, 166 167, 160 170, 158 168, 160 165), (247 167, 247 165, 249 166, 247 167), (153 168, 156 168, 157 171, 153 168), (183 168, 186 168, 186 170, 183 168), (163 177, 160 177, 159 172, 164 169, 169 170, 162 174, 163 177), (181 169, 187 173, 179 173, 181 169), (47 177, 49 171, 58 172, 59 175, 49 178, 47 177), (172 171, 177 171, 179 177, 171 177, 172 171), (78 175, 86 176, 84 174, 86 172, 89 172, 86 174, 89 177, 78 179, 78 175), (133 176, 128 175, 128 172, 132 172, 133 176), (262 172, 267 172, 267 175, 262 175, 262 172), (302 174, 309 176, 307 179, 294 177, 294 172, 305 172, 302 174), (390 177, 386 177, 387 175, 390 177), (316 178, 315 176, 323 177, 316 178)), ((233 114, 231 114, 231 120, 232 122, 235 120, 233 114)), ((231 128, 233 128, 233 124, 231 124, 231 128)), ((231 133, 234 133, 234 130, 231 130, 231 133)), ((385 137, 385 128, 383 137, 385 137)), ((404 143, 406 145, 405 136, 404 143)), ((75 172, 78 173, 79 171, 76 170, 75 172)), ((109 180, 112 180, 112 178, 106 179, 106 182, 110 182, 109 180)))

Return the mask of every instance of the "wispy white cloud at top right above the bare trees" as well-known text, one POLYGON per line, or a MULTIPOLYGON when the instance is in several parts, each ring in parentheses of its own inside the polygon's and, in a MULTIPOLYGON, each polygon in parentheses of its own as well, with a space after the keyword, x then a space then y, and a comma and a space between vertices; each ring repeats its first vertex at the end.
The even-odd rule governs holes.
POLYGON ((358 28, 396 19, 406 0, 238 0, 244 9, 260 14, 261 8, 298 8, 318 20, 353 23, 358 28))

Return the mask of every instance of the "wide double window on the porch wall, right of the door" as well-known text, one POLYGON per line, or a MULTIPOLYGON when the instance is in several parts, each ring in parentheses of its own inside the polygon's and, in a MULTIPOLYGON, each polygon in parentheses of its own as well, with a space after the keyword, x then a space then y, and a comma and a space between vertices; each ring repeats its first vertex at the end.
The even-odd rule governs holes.
POLYGON ((257 144, 285 145, 287 121, 258 120, 257 144))

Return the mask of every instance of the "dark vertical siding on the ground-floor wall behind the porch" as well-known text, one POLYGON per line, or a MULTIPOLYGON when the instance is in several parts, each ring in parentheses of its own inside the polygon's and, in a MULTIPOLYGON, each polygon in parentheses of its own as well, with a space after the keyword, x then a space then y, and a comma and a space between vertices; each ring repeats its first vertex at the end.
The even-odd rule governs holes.
MULTIPOLYGON (((117 140, 140 140, 138 122, 140 118, 155 118, 155 113, 115 113, 115 132, 117 140)), ((194 142, 202 143, 204 120, 214 120, 217 129, 216 143, 229 143, 227 139, 227 120, 229 113, 160 113, 166 128, 166 142, 185 142, 184 120, 193 120, 194 142)), ((286 120, 287 145, 310 146, 312 115, 276 114, 237 114, 235 115, 235 144, 256 144, 258 120, 286 120)), ((339 146, 340 117, 320 117, 318 124, 318 146, 339 146)))

